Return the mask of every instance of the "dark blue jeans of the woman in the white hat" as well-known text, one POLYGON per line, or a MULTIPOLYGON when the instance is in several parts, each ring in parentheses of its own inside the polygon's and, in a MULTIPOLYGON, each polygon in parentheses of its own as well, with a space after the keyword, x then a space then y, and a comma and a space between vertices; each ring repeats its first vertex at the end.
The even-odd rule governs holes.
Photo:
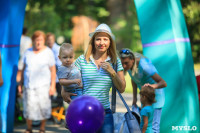
POLYGON ((105 109, 104 122, 102 127, 97 133, 113 133, 114 132, 114 121, 111 109, 105 109))

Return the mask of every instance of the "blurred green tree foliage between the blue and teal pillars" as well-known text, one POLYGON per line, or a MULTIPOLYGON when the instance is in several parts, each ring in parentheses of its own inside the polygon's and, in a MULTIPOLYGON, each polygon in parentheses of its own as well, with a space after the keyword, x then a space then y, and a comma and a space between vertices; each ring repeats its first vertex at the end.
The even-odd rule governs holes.
POLYGON ((116 7, 108 3, 119 3, 121 0, 30 0, 26 8, 25 26, 29 35, 40 29, 53 32, 56 36, 64 36, 70 41, 73 16, 85 15, 99 23, 111 26, 117 38, 118 48, 132 47, 142 51, 136 10, 132 0, 124 0, 116 7), (112 8, 112 9, 110 9, 112 8), (117 15, 115 11, 118 9, 117 15), (112 14, 111 14, 112 13, 112 14), (112 21, 111 21, 112 20, 112 21), (137 46, 137 47, 135 47, 137 46))

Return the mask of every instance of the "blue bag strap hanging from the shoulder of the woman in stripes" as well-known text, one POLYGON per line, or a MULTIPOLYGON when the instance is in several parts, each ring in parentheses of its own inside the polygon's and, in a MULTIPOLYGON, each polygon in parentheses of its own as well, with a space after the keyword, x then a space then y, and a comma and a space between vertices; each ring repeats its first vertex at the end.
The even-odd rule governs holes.
MULTIPOLYGON (((117 64, 113 64, 113 68, 117 72, 117 64)), ((123 96, 121 95, 121 93, 118 91, 118 89, 115 87, 115 85, 113 83, 112 83, 112 99, 111 99, 111 110, 112 110, 112 112, 115 113, 115 111, 116 111, 116 91, 117 91, 120 99, 122 100, 123 104, 125 105, 125 107, 127 109, 127 112, 129 114, 129 117, 133 118, 132 112, 131 112, 129 106, 127 105, 127 103, 124 100, 123 96)))

